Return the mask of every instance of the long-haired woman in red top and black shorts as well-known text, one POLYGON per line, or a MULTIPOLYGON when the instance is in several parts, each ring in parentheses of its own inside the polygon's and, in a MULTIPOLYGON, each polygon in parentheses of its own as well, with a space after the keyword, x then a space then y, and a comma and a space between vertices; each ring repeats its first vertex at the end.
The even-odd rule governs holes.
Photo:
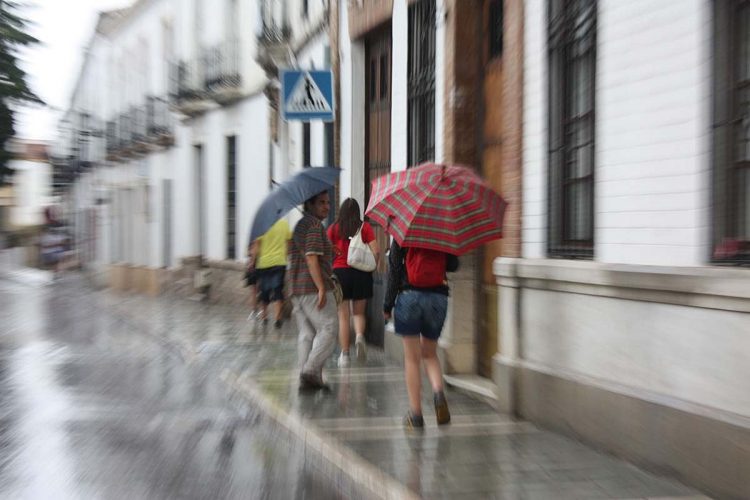
POLYGON ((372 298, 372 272, 360 271, 350 267, 347 263, 349 243, 357 234, 370 247, 375 261, 378 261, 378 242, 375 231, 360 217, 359 203, 353 198, 347 198, 341 203, 336 222, 328 228, 328 238, 333 243, 333 272, 341 283, 343 301, 339 305, 339 368, 350 366, 349 346, 351 343, 350 317, 354 316, 354 332, 356 334, 354 346, 357 351, 357 361, 363 363, 367 358, 365 343, 365 307, 367 299, 372 298))

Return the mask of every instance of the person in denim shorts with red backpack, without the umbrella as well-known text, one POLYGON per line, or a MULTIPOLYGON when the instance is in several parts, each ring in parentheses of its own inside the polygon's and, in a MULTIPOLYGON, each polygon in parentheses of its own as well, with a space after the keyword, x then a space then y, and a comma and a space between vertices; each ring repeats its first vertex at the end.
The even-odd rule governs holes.
POLYGON ((404 343, 404 377, 409 394, 408 428, 424 427, 421 402, 421 364, 432 385, 438 425, 450 422, 443 374, 437 357, 437 341, 448 311, 446 272, 458 269, 458 258, 437 250, 391 244, 388 255, 388 285, 383 313, 394 317, 396 335, 404 343))

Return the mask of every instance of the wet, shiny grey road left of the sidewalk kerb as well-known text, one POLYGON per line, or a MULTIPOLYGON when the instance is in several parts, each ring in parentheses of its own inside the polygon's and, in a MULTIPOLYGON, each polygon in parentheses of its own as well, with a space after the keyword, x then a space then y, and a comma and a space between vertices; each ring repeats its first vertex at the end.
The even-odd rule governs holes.
POLYGON ((315 457, 75 276, 0 277, 1 498, 336 498, 315 457))

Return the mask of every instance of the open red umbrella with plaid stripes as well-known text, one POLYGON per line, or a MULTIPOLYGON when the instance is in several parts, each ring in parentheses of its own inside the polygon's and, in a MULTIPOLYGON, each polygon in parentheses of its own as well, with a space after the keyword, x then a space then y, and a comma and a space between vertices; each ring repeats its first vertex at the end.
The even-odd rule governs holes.
POLYGON ((502 237, 506 205, 472 169, 425 163, 374 180, 365 213, 399 245, 461 255, 502 237))

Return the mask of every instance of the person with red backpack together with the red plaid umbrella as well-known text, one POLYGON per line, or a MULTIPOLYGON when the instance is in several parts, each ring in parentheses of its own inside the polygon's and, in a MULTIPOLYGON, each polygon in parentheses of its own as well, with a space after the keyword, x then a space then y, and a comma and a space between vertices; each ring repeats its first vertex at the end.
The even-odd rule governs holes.
POLYGON ((424 426, 421 364, 433 390, 438 425, 450 422, 437 358, 437 340, 448 309, 446 272, 456 256, 502 236, 505 201, 472 169, 434 163, 385 175, 373 182, 366 214, 393 237, 383 312, 394 314, 404 343, 409 412, 404 424, 424 426))

